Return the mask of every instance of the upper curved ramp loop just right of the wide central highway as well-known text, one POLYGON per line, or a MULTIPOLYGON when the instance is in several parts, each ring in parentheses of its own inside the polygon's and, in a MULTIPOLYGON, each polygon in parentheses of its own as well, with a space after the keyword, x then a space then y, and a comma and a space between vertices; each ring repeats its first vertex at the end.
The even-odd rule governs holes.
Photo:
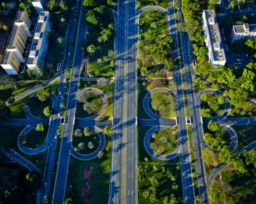
MULTIPOLYGON (((167 89, 167 88, 155 88, 151 91, 149 91, 146 96, 143 99, 143 108, 145 109, 146 113, 154 119, 159 119, 159 118, 167 118, 167 117, 163 117, 163 116, 159 116, 156 115, 155 113, 153 113, 151 111, 151 109, 149 108, 149 99, 151 98, 151 96, 153 96, 154 94, 158 93, 158 92, 164 92, 166 94, 172 94, 174 96, 174 92, 171 89, 167 89)), ((170 118, 169 118, 170 119, 170 118)))

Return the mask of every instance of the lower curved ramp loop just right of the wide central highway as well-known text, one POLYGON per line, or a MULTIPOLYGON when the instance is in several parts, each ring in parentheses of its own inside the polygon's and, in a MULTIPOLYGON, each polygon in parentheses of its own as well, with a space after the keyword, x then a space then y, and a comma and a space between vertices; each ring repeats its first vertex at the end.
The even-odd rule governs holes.
POLYGON ((154 132, 156 132, 157 130, 162 130, 162 129, 166 129, 166 128, 169 128, 169 126, 153 126, 146 132, 146 135, 144 138, 144 147, 145 147, 146 151, 148 152, 148 154, 151 157, 154 157, 155 159, 162 160, 162 161, 171 160, 171 159, 179 156, 179 142, 178 142, 178 147, 175 149, 175 151, 169 155, 159 155, 155 151, 153 151, 153 149, 150 148, 151 135, 154 132))

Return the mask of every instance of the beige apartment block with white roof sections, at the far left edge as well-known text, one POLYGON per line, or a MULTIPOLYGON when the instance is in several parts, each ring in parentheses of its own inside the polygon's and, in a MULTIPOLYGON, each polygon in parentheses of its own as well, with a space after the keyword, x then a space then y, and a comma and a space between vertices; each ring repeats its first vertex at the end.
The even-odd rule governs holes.
POLYGON ((18 11, 1 62, 1 66, 9 75, 17 75, 20 63, 25 62, 23 52, 26 41, 31 36, 30 25, 26 12, 18 11))

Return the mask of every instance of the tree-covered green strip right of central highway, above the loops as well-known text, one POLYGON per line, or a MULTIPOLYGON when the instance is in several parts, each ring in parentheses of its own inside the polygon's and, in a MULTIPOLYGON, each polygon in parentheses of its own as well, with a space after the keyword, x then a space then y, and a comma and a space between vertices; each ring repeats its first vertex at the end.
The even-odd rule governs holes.
POLYGON ((171 54, 174 41, 167 35, 165 15, 159 11, 144 12, 139 24, 137 67, 141 77, 170 77, 177 63, 171 54))

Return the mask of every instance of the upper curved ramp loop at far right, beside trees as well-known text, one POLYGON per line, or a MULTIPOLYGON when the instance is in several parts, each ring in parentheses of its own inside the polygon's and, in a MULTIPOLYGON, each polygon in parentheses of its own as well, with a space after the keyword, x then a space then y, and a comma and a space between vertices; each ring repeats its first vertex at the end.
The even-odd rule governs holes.
POLYGON ((204 89, 196 95, 196 106, 200 106, 200 100, 201 100, 201 96, 203 94, 216 94, 216 95, 220 95, 225 98, 224 112, 221 115, 218 115, 215 117, 203 118, 203 122, 205 125, 207 125, 209 123, 209 121, 211 121, 211 120, 212 121, 221 121, 229 115, 231 105, 230 105, 230 101, 229 101, 229 98, 227 97, 227 95, 225 95, 223 92, 216 90, 216 89, 204 89))

